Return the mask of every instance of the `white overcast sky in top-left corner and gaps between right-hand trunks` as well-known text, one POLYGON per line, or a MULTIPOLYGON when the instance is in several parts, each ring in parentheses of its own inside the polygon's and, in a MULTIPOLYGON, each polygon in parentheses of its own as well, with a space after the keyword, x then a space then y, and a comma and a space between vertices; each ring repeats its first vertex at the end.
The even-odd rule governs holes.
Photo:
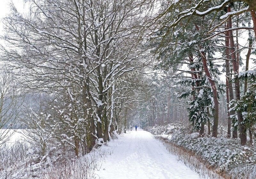
MULTIPOLYGON (((23 0, 0 0, 0 19, 1 19, 1 21, 0 21, 0 34, 3 33, 3 31, 2 31, 3 30, 2 18, 4 18, 8 14, 8 12, 10 12, 10 8, 9 8, 10 3, 13 3, 20 12, 25 11, 23 0)), ((24 13, 26 13, 26 12, 24 12, 24 13)), ((239 42, 240 43, 242 42, 242 45, 245 45, 247 43, 247 39, 248 39, 248 31, 246 31, 244 33, 243 38, 239 42)), ((4 42, 0 41, 0 43, 3 44, 4 42)), ((244 64, 245 64, 245 59, 246 59, 246 57, 245 57, 246 53, 247 53, 247 49, 244 50, 241 54, 242 58, 244 59, 243 60, 244 64)), ((256 56, 251 56, 251 57, 256 58, 256 56)), ((220 63, 220 64, 223 64, 223 63, 220 63)), ((249 69, 252 69, 253 67, 254 66, 252 64, 249 65, 249 69)), ((183 68, 186 69, 186 66, 183 66, 183 68)), ((242 68, 243 67, 240 67, 240 71, 242 70, 242 68)), ((188 69, 186 69, 186 70, 188 70, 188 69)), ((222 69, 220 69, 220 70, 222 70, 222 69)), ((220 79, 225 82, 225 79, 226 79, 225 74, 222 74, 220 76, 220 79)))

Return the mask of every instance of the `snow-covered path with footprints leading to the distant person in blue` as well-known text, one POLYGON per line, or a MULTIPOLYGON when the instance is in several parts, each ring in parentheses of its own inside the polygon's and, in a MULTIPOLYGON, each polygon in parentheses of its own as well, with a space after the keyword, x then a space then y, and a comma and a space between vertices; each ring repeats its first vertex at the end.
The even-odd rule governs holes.
POLYGON ((103 162, 97 179, 199 179, 199 175, 175 156, 164 145, 141 129, 135 129, 118 140, 113 154, 103 162))

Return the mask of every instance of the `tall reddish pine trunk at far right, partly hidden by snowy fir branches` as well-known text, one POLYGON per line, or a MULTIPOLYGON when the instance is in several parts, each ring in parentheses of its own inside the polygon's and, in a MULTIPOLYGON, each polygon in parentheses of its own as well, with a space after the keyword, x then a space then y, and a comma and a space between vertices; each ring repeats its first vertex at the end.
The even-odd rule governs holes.
MULTIPOLYGON (((231 11, 230 6, 228 7, 228 12, 231 11)), ((231 18, 228 19, 228 27, 232 28, 232 21, 231 18)), ((231 48, 231 58, 232 58, 232 64, 233 64, 233 71, 234 74, 239 73, 239 66, 237 66, 237 59, 235 54, 235 43, 234 43, 234 37, 232 30, 228 31, 229 33, 229 41, 230 41, 230 48, 231 48)), ((235 92, 236 92, 236 101, 240 100, 240 83, 239 79, 235 80, 235 92)), ((237 110, 237 119, 238 119, 238 127, 239 127, 239 137, 241 140, 241 145, 246 144, 246 128, 244 126, 243 122, 243 116, 242 111, 237 110)))

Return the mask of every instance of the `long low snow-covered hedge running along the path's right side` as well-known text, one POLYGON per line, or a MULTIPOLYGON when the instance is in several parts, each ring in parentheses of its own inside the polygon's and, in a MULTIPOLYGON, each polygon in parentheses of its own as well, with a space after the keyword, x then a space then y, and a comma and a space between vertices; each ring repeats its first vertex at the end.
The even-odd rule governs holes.
POLYGON ((147 130, 161 135, 173 144, 195 152, 220 170, 256 164, 256 146, 241 146, 238 139, 199 137, 199 133, 188 133, 187 127, 175 124, 150 127, 147 130), (167 137, 166 134, 169 134, 167 137))

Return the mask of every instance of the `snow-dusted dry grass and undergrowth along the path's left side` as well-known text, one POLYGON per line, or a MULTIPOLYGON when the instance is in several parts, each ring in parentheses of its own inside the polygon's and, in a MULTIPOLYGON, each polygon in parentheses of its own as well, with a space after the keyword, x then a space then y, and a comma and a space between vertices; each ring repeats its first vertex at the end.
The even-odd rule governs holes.
MULTIPOLYGON (((107 144, 105 144, 107 145, 107 144)), ((77 158, 69 147, 52 147, 41 156, 37 146, 15 142, 0 148, 0 179, 92 179, 112 151, 105 146, 77 158)))

